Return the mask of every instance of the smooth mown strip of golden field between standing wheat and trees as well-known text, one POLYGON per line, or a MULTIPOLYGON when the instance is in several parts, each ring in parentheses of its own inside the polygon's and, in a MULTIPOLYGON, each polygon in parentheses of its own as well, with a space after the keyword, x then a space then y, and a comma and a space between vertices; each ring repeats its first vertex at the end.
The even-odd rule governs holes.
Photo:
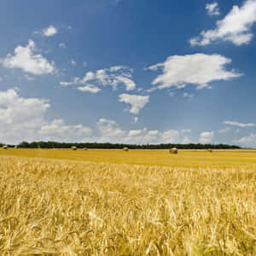
POLYGON ((83 160, 108 162, 113 164, 136 164, 147 166, 242 166, 256 168, 256 150, 178 150, 169 154, 168 150, 71 150, 71 149, 0 149, 0 155, 39 157, 59 160, 83 160))

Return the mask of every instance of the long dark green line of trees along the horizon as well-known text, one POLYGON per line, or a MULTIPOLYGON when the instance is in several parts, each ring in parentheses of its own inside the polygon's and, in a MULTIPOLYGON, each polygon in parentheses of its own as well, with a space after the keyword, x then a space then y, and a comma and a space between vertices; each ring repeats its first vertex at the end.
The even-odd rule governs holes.
MULTIPOLYGON (((3 143, 0 143, 3 146, 3 143)), ((10 148, 15 147, 15 145, 8 145, 10 148)), ((121 149, 121 148, 131 148, 131 149, 236 149, 241 148, 236 145, 227 144, 201 144, 201 143, 189 143, 189 144, 123 144, 123 143, 57 143, 57 142, 22 142, 18 148, 71 148, 75 146, 77 148, 102 148, 102 149, 121 149)))

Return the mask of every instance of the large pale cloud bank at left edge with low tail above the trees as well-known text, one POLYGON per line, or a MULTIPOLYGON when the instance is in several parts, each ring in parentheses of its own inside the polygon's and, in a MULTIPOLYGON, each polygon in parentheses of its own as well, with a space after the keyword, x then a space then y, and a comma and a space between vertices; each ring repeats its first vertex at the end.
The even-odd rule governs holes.
POLYGON ((49 107, 48 100, 22 97, 15 89, 0 91, 0 141, 76 142, 90 136, 90 128, 84 125, 66 125, 62 119, 46 120, 49 107))

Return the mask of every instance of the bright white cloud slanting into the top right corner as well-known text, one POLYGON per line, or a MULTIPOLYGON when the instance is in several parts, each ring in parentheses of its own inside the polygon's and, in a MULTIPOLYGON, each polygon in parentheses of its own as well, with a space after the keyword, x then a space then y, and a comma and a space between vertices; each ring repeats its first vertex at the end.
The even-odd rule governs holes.
POLYGON ((248 44, 252 38, 252 26, 256 22, 256 0, 247 0, 241 8, 234 5, 223 20, 218 20, 216 28, 202 31, 197 38, 191 38, 190 44, 207 45, 212 41, 230 41, 237 46, 248 44))

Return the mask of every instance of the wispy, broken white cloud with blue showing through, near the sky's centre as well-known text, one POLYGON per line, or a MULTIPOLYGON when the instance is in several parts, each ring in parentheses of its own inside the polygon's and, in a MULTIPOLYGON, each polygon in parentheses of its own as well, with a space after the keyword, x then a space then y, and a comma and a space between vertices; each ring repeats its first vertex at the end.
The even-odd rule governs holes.
POLYGON ((75 78, 72 82, 61 82, 63 85, 101 84, 102 86, 111 86, 113 90, 117 90, 119 84, 125 86, 125 90, 135 90, 136 84, 132 80, 132 69, 124 66, 115 66, 110 68, 99 69, 95 73, 87 72, 84 78, 75 78))

